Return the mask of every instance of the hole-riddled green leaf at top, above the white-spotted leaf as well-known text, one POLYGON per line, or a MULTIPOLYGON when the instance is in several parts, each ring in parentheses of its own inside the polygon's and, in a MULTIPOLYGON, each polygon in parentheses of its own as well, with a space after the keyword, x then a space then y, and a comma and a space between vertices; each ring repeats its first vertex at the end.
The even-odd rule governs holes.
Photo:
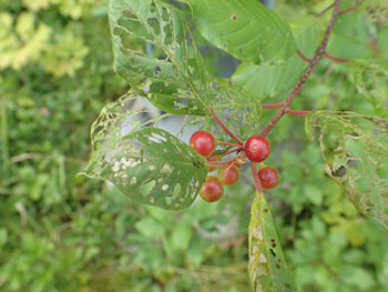
POLYGON ((208 113, 203 59, 176 8, 156 0, 110 0, 109 19, 114 69, 137 94, 166 112, 208 113))

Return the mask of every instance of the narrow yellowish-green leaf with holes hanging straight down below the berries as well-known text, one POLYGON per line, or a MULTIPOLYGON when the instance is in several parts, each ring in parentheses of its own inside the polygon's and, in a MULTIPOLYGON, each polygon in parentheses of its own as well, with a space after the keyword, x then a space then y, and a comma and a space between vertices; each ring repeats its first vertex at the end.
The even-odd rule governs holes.
POLYGON ((261 193, 256 193, 251 208, 248 269, 253 291, 297 291, 287 270, 270 211, 261 193))

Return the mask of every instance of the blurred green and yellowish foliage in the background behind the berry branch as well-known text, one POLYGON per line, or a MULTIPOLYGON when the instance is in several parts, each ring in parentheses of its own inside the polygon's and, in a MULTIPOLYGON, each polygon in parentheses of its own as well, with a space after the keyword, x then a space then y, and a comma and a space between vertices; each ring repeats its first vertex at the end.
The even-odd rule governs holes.
MULTIPOLYGON (((182 212, 75 177, 91 122, 127 90, 112 70, 106 11, 104 0, 0 0, 0 291, 248 291, 247 175, 221 202, 182 212)), ((214 73, 219 56, 205 51, 214 73)), ((295 108, 385 115, 387 97, 355 92, 347 67, 324 60, 295 108)), ((282 185, 267 197, 300 290, 388 291, 388 232, 325 175, 303 119, 284 118, 270 140, 282 185)))

